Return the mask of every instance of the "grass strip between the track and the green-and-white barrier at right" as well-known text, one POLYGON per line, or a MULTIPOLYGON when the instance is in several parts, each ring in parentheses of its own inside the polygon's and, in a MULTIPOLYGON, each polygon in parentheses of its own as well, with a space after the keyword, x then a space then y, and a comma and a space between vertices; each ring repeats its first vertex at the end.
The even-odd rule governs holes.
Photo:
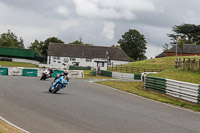
POLYGON ((200 111, 200 106, 195 103, 187 102, 184 100, 176 99, 165 94, 160 94, 155 91, 144 89, 144 83, 142 82, 125 82, 125 81, 98 81, 98 84, 110 86, 122 91, 133 93, 142 97, 160 101, 163 103, 169 103, 175 106, 189 108, 194 111, 200 111))

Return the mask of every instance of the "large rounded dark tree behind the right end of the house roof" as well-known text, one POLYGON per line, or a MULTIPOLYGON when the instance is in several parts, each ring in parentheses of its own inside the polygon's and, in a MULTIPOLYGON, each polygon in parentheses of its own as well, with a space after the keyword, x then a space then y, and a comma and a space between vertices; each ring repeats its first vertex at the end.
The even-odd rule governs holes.
POLYGON ((130 29, 118 41, 124 52, 134 60, 146 59, 146 40, 144 35, 135 29, 130 29))

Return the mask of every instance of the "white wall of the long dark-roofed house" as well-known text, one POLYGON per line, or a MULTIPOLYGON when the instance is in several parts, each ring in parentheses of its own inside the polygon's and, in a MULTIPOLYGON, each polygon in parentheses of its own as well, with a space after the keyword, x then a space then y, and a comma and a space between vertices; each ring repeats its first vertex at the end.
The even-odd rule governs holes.
MULTIPOLYGON (((91 59, 91 62, 86 62, 86 58, 76 58, 75 61, 72 61, 70 60, 70 57, 60 57, 59 59, 54 59, 54 56, 47 57, 47 64, 51 64, 52 66, 59 66, 61 68, 74 65, 73 62, 79 62, 79 66, 83 66, 83 67, 90 66, 97 69, 97 63, 95 61, 106 61, 106 59, 95 58, 95 59, 91 59), (49 62, 49 59, 50 59, 50 62, 49 62), (64 66, 63 63, 66 64, 66 66, 64 66)), ((112 62, 114 65, 128 63, 127 61, 117 61, 117 60, 111 60, 111 63, 112 62)), ((107 63, 104 63, 104 67, 100 67, 100 69, 107 70, 107 63)))

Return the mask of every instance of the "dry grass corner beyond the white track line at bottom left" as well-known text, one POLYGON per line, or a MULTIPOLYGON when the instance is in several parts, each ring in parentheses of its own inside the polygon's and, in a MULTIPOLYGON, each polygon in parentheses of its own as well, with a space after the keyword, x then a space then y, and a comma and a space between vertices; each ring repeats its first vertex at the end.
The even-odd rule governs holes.
POLYGON ((0 120, 0 133, 23 133, 21 130, 0 120))

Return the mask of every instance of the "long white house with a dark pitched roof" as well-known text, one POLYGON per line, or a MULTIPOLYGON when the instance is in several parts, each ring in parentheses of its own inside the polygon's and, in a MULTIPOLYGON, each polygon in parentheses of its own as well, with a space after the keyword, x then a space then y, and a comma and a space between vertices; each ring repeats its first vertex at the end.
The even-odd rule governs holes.
POLYGON ((47 64, 61 68, 74 65, 107 69, 107 64, 125 64, 129 57, 118 47, 50 43, 47 64))

